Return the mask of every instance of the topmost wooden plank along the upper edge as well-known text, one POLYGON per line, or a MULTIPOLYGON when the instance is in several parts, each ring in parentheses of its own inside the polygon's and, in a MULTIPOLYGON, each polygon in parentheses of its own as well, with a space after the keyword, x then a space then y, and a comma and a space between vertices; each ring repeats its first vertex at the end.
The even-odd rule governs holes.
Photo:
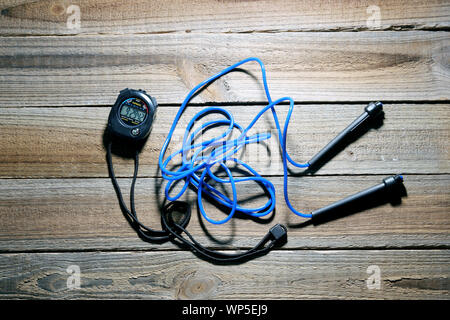
POLYGON ((442 30, 450 16, 444 0, 8 0, 0 9, 2 35, 442 30), (70 5, 80 8, 80 28, 68 27, 70 5))

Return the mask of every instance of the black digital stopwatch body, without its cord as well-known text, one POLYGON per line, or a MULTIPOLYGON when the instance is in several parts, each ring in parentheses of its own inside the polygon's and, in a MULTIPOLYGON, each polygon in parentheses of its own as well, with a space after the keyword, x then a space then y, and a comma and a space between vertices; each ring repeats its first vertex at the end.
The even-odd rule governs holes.
POLYGON ((157 106, 145 91, 124 89, 109 113, 108 130, 130 142, 142 141, 150 133, 157 106))

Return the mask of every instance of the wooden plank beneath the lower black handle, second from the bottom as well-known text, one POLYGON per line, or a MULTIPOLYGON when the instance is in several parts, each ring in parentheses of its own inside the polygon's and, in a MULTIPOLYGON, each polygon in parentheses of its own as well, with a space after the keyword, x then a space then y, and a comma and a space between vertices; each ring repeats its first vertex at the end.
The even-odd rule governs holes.
MULTIPOLYGON (((294 208, 311 212, 333 201, 380 183, 384 176, 291 177, 289 195, 294 208)), ((260 222, 234 217, 224 225, 200 223, 196 205, 188 230, 202 243, 217 248, 254 246, 275 223, 289 227, 286 248, 447 248, 449 242, 450 176, 405 176, 408 196, 398 206, 381 205, 318 226, 287 208, 282 178, 272 177, 277 190, 275 214, 260 222)), ((138 179, 136 209, 144 224, 160 228, 161 180, 138 179)), ((129 179, 120 179, 128 199, 129 179)), ((253 184, 238 186, 240 203, 250 207, 266 199, 253 184)), ((184 198, 196 201, 188 192, 184 198)), ((208 215, 226 213, 204 200, 208 215)), ((0 250, 160 250, 173 244, 151 244, 138 238, 119 209, 109 179, 0 180, 0 250)))

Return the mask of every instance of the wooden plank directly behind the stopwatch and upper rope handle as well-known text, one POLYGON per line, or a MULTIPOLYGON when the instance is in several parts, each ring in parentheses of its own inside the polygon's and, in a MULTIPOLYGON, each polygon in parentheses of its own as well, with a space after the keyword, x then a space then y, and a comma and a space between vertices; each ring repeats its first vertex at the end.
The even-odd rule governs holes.
MULTIPOLYGON (((202 108, 187 108, 170 151, 181 147, 184 128, 202 108)), ((249 108, 226 107, 243 126, 250 123, 261 106, 249 108)), ((291 157, 299 162, 308 161, 359 116, 363 108, 363 104, 296 105, 288 132, 291 157)), ((152 133, 140 157, 141 175, 161 176, 159 151, 177 109, 158 109, 152 133)), ((0 108, 0 176, 108 177, 102 135, 109 110, 93 107, 0 108)), ((282 123, 286 110, 287 106, 278 107, 282 123)), ((385 120, 379 129, 370 130, 347 146, 317 174, 450 173, 448 104, 387 104, 384 110, 385 120)), ((239 154, 263 175, 283 174, 274 128, 272 116, 263 116, 250 134, 269 131, 272 138, 250 145, 239 154)), ((119 176, 132 174, 131 160, 115 157, 114 163, 119 176)))

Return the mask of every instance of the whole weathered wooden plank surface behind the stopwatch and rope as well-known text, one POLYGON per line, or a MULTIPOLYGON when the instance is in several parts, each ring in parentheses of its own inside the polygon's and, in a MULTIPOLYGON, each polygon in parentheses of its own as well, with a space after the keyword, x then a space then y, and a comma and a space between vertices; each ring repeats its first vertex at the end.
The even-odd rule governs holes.
MULTIPOLYGON (((449 1, 3 0, 0 10, 0 298, 449 299, 449 1), (67 26, 72 4, 81 29, 67 26), (119 209, 102 144, 118 92, 146 89, 160 103, 137 183, 138 212, 156 228, 156 159, 177 108, 199 81, 248 56, 264 61, 272 97, 296 101, 288 150, 297 161, 368 102, 385 103, 381 128, 314 175, 290 177, 296 208, 395 173, 408 196, 317 227, 300 227, 281 193, 267 224, 202 225, 194 215, 189 230, 223 250, 289 226, 282 249, 242 265, 141 241, 119 209), (79 289, 66 286, 70 265, 80 267, 79 289), (380 289, 366 285, 370 265, 380 289)), ((181 122, 220 102, 248 123, 265 99, 257 66, 245 69, 196 97, 181 122)), ((272 127, 270 117, 258 124, 272 127)), ((280 192, 277 150, 275 141, 247 160, 280 192)), ((132 162, 114 162, 128 190, 132 162)))

